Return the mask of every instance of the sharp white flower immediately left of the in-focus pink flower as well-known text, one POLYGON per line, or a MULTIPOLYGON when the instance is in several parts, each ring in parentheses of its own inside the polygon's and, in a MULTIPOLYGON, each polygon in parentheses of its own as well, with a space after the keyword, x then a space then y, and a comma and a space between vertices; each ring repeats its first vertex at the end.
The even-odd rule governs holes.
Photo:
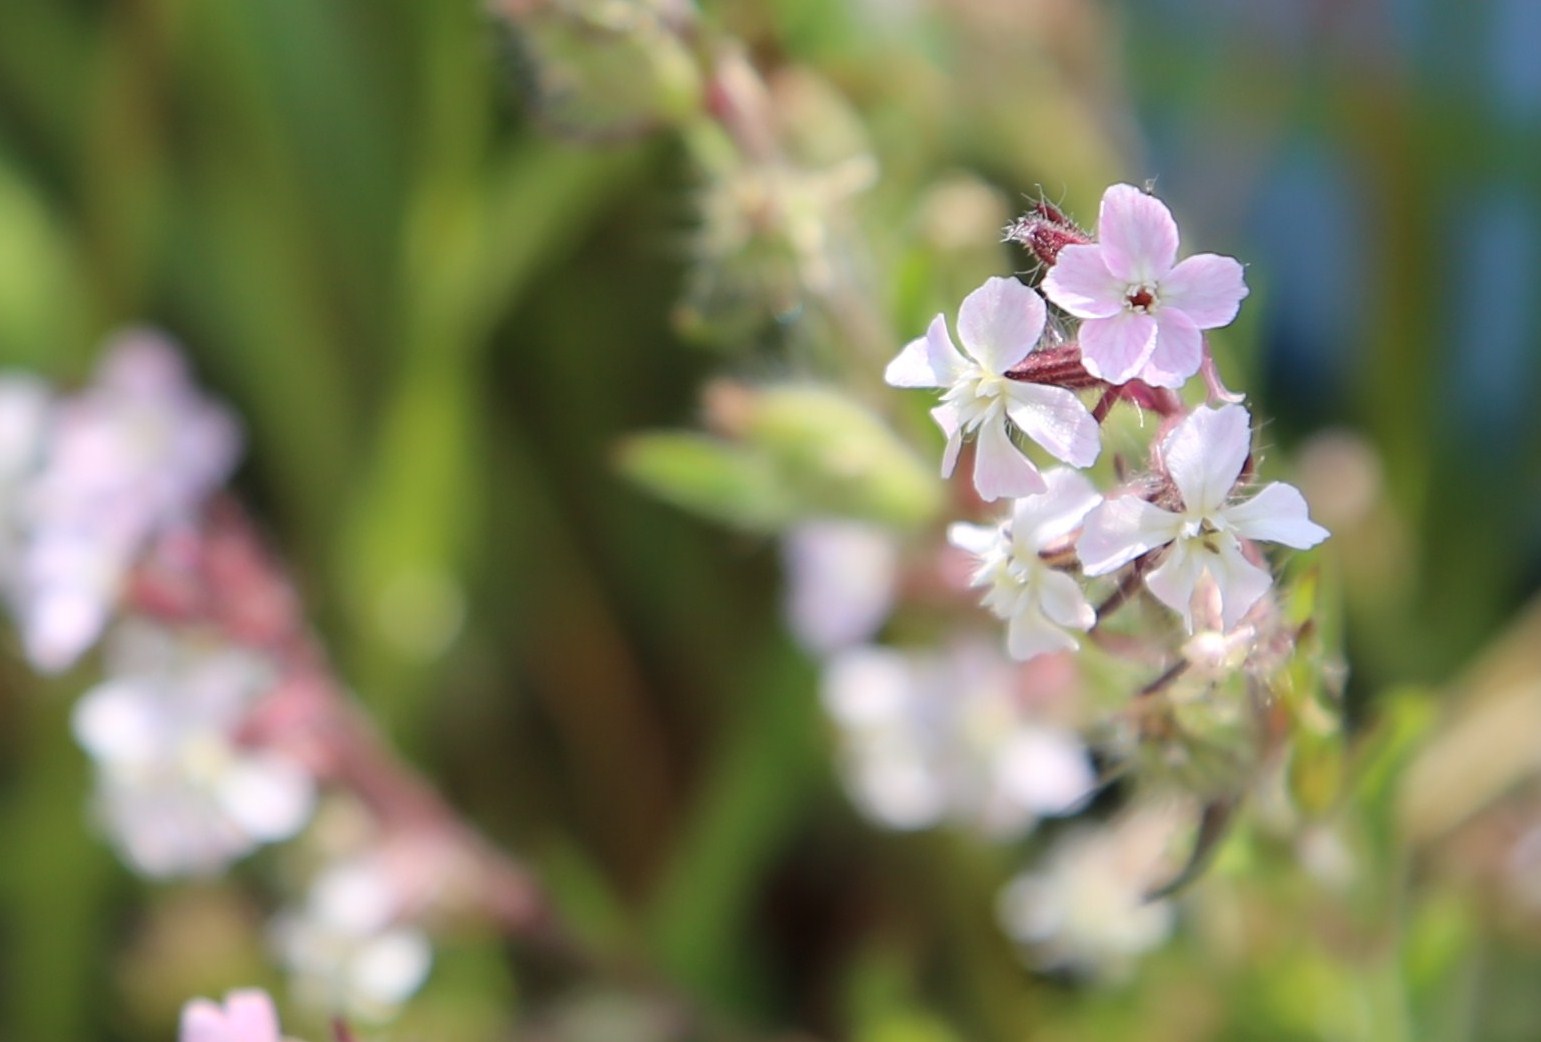
POLYGON ((1097 421, 1063 387, 1006 378, 1043 334, 1043 299, 1016 279, 988 279, 959 308, 959 339, 948 336, 943 316, 889 362, 885 379, 894 387, 945 387, 931 410, 948 436, 942 476, 952 473, 963 438, 975 438, 974 487, 985 499, 1043 492, 1043 476, 1011 439, 1011 427, 1074 467, 1097 461, 1097 421))

